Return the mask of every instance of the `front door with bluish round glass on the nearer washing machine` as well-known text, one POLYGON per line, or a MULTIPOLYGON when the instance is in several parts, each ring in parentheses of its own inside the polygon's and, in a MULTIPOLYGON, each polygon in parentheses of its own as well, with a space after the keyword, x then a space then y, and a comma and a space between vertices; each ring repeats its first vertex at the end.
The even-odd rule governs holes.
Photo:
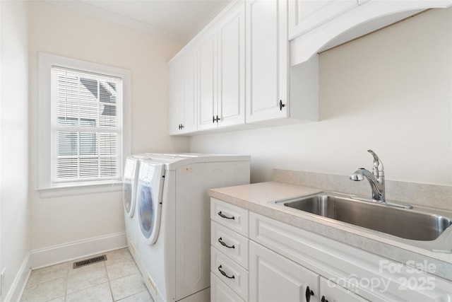
POLYGON ((140 170, 137 192, 138 224, 146 243, 153 244, 157 241, 160 231, 165 164, 143 161, 140 170), (143 173, 144 171, 146 173, 143 173))

